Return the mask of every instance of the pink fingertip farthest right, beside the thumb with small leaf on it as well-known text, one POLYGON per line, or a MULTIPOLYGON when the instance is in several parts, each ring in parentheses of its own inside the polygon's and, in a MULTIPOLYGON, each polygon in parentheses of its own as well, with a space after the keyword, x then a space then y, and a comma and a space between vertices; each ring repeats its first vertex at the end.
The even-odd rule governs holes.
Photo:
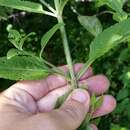
POLYGON ((105 95, 103 104, 93 113, 93 118, 111 113, 116 108, 116 100, 111 95, 105 95))

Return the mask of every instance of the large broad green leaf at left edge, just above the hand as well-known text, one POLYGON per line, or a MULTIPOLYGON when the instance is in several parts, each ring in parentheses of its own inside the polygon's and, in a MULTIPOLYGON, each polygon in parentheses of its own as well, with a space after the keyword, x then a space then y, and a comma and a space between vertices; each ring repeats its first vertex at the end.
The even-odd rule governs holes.
POLYGON ((38 58, 15 56, 0 58, 0 78, 10 80, 37 80, 49 74, 49 68, 38 58))

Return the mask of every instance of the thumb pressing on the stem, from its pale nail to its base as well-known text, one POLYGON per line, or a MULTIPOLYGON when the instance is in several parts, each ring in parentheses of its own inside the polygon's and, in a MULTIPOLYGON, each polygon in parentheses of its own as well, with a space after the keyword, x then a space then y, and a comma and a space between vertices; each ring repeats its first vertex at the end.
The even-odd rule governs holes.
MULTIPOLYGON (((77 89, 72 92, 62 107, 53 111, 56 130, 75 130, 84 120, 89 110, 90 97, 87 91, 77 89)), ((51 114, 52 114, 51 113, 51 114)))

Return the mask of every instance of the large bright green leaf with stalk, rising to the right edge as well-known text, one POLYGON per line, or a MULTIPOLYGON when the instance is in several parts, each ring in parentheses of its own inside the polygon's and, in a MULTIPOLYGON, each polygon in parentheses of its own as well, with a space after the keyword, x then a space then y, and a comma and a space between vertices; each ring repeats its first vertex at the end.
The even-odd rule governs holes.
POLYGON ((100 33, 90 44, 89 59, 78 73, 79 79, 88 67, 112 48, 123 43, 130 36, 130 18, 117 23, 100 33))

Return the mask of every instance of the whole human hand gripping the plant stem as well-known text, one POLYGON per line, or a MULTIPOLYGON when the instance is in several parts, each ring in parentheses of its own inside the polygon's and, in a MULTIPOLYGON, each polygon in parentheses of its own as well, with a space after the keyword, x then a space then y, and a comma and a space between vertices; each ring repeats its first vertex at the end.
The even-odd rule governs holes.
MULTIPOLYGON (((82 64, 75 65, 78 72, 82 64)), ((67 67, 61 67, 65 72, 67 67)), ((76 130, 89 111, 90 94, 97 96, 108 90, 109 81, 103 75, 93 76, 89 68, 79 84, 86 84, 88 92, 77 89, 70 94, 61 108, 54 110, 57 98, 69 90, 60 76, 49 76, 39 81, 21 81, 0 94, 0 130, 76 130)), ((93 117, 113 111, 115 99, 104 95, 102 106, 93 117)), ((91 125, 97 130, 95 125, 91 125)))

